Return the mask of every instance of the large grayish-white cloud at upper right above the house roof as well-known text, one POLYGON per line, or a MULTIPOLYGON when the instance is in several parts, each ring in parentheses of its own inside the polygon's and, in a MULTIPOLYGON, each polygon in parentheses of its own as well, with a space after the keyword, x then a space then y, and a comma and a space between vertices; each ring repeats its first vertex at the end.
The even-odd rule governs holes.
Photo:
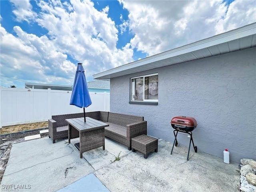
POLYGON ((132 48, 148 56, 256 22, 254 0, 120 2, 129 11, 132 48))

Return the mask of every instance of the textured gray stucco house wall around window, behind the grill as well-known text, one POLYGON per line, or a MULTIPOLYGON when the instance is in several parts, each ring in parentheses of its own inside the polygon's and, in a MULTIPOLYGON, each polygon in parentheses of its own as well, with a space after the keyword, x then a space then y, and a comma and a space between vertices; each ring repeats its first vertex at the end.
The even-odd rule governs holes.
MULTIPOLYGON (((254 47, 113 78, 110 111, 144 116, 148 135, 170 142, 174 141, 171 118, 194 117, 198 126, 192 134, 198 151, 223 158, 228 148, 230 161, 256 159, 255 63, 254 47), (159 79, 158 105, 129 104, 130 78, 153 73, 159 79)), ((188 147, 190 138, 182 134, 177 138, 188 147)))

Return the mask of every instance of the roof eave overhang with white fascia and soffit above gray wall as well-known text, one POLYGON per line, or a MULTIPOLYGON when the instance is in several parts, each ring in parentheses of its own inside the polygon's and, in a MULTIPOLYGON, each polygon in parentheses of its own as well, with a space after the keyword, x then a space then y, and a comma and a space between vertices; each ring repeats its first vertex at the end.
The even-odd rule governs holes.
POLYGON ((256 46, 256 22, 160 54, 134 61, 98 74, 110 79, 146 70, 207 58, 256 46))

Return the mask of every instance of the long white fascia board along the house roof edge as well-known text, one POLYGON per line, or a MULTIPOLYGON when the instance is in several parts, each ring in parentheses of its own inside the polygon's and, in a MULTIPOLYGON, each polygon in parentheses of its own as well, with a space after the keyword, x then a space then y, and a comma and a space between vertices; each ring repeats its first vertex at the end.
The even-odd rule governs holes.
POLYGON ((206 38, 206 39, 203 39, 203 40, 191 43, 191 44, 187 44, 185 46, 174 48, 172 50, 162 52, 160 54, 156 54, 156 55, 153 55, 153 56, 150 56, 150 57, 138 60, 138 61, 134 61, 134 62, 125 64, 125 65, 104 71, 104 72, 100 72, 98 74, 94 74, 93 78, 97 79, 97 78, 107 76, 107 75, 110 75, 113 73, 122 72, 124 70, 129 70, 131 68, 146 65, 146 64, 156 62, 159 60, 163 60, 163 59, 167 59, 167 58, 172 58, 174 56, 179 56, 179 55, 193 52, 196 50, 201 50, 203 48, 216 46, 218 44, 222 44, 225 42, 229 42, 232 40, 236 40, 236 39, 254 35, 254 34, 256 34, 256 22, 246 25, 246 26, 243 26, 241 28, 237 28, 237 29, 234 29, 234 30, 222 33, 222 34, 218 34, 216 36, 212 36, 210 38, 206 38))

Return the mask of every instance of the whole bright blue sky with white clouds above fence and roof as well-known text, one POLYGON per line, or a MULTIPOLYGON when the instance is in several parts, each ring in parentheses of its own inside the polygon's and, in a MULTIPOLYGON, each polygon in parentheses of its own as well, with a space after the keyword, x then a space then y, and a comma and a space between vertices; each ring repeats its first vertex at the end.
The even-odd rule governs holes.
POLYGON ((0 0, 0 86, 72 85, 256 22, 255 0, 0 0))

